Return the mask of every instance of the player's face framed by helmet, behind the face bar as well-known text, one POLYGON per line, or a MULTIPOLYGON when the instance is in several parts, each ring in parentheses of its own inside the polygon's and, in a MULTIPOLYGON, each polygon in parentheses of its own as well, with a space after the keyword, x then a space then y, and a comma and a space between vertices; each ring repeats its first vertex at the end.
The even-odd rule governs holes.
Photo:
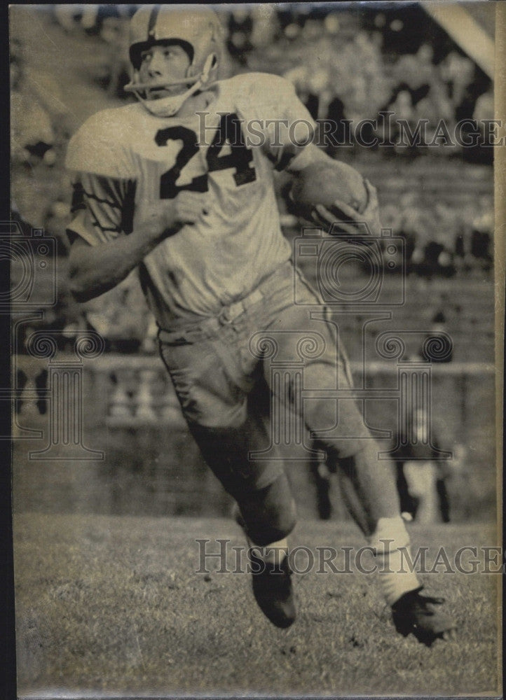
MULTIPOLYGON (((186 78, 189 66, 189 55, 182 46, 178 44, 151 46, 141 54, 139 79, 142 83, 153 83, 153 85, 171 83, 173 80, 186 78)), ((147 97, 148 99, 160 99, 160 97, 167 97, 167 95, 179 94, 184 90, 184 85, 156 87, 148 90, 147 97)))

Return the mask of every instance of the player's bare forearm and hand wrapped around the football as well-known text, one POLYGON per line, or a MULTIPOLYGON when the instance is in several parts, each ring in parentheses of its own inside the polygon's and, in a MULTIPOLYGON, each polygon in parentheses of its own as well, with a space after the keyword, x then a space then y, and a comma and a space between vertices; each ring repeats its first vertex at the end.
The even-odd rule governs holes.
MULTIPOLYGON (((308 146, 301 148, 292 162, 290 162, 287 172, 303 176, 303 170, 310 165, 321 164, 324 167, 324 165, 334 162, 315 144, 308 144, 308 146)), ((325 228, 339 221, 339 228, 350 235, 357 235, 357 232, 360 233, 357 225, 366 222, 369 225, 369 229, 378 235, 381 229, 378 195, 376 188, 367 179, 364 179, 364 186, 367 190, 367 206, 362 213, 359 213, 356 209, 350 207, 349 204, 339 199, 336 199, 333 206, 328 208, 315 202, 312 212, 313 221, 317 225, 323 225, 325 228), (346 217, 346 221, 343 221, 343 215, 346 217)))

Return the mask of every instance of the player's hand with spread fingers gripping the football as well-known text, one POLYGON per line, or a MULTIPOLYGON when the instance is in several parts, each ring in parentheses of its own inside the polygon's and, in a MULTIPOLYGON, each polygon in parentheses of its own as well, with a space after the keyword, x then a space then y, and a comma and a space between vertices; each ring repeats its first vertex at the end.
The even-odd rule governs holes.
POLYGON ((336 200, 332 207, 324 207, 323 204, 316 204, 313 209, 313 221, 323 226, 327 230, 334 225, 334 230, 343 232, 350 236, 363 236, 363 224, 369 227, 371 236, 379 236, 381 222, 379 216, 378 194, 376 188, 369 180, 364 179, 367 190, 367 205, 360 214, 356 209, 342 200, 336 200))

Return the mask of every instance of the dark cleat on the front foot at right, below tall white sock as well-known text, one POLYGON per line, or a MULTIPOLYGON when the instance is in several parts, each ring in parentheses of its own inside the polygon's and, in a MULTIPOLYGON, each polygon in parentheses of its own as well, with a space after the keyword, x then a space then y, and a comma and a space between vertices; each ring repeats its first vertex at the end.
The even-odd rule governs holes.
POLYGON ((392 618, 397 632, 404 637, 413 634, 430 647, 436 639, 455 635, 456 623, 441 609, 444 598, 420 596, 423 587, 408 591, 392 605, 392 618))

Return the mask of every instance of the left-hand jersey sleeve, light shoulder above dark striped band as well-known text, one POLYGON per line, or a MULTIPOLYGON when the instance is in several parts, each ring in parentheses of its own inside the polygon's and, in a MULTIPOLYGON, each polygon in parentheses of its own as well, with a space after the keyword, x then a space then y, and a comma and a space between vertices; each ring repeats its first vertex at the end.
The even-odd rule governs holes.
POLYGON ((90 245, 130 233, 136 181, 107 112, 92 117, 71 139, 66 165, 73 187, 67 232, 90 245))

